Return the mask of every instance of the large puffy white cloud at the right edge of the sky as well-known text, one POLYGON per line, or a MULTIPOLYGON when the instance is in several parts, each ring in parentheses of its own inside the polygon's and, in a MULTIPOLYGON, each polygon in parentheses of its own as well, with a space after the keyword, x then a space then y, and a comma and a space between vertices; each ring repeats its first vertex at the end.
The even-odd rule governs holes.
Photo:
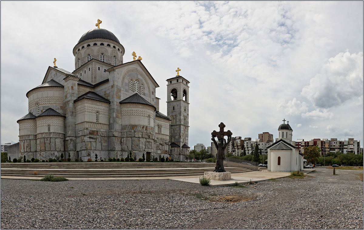
POLYGON ((363 95, 363 53, 339 53, 302 89, 314 106, 330 108, 363 95))

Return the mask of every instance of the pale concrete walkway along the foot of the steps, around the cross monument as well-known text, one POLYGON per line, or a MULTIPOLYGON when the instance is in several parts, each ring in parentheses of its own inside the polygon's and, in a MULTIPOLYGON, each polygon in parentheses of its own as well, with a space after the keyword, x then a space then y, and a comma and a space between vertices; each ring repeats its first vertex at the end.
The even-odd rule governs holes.
MULTIPOLYGON (((304 169, 302 172, 308 174, 313 171, 313 169, 304 169)), ((289 172, 268 172, 268 171, 250 171, 232 174, 232 179, 227 181, 214 181, 211 180, 210 186, 231 186, 235 182, 239 185, 248 184, 250 182, 266 181, 271 178, 281 178, 289 176, 289 172)), ((163 180, 171 179, 176 181, 184 181, 190 183, 199 184, 199 178, 201 176, 181 176, 181 177, 129 177, 129 178, 114 178, 114 177, 104 177, 104 178, 67 178, 70 180, 163 180)), ((8 177, 1 176, 1 179, 41 179, 42 177, 8 177)))

